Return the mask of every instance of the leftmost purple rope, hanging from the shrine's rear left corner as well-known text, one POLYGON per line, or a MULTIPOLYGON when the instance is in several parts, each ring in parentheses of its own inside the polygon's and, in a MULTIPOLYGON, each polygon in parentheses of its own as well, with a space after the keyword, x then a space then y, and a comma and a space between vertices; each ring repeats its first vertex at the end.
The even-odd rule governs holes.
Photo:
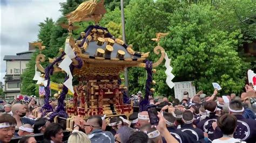
POLYGON ((51 65, 47 66, 44 70, 45 80, 48 80, 47 86, 45 87, 45 98, 44 98, 44 105, 42 106, 40 112, 43 112, 42 116, 45 116, 48 112, 53 111, 52 106, 49 104, 50 99, 50 75, 52 75, 53 71, 53 65, 55 65, 56 62, 59 62, 62 60, 62 57, 65 55, 63 52, 62 55, 60 55, 55 61, 51 63, 51 65))

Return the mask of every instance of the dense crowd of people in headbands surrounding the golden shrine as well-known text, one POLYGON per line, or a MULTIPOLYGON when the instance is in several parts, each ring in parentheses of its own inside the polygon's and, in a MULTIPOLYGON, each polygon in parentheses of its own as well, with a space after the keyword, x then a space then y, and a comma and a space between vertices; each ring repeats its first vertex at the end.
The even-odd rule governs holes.
MULTIPOLYGON (((194 96, 184 92, 183 99, 168 98, 156 101, 152 96, 149 104, 157 106, 159 123, 150 124, 147 111, 133 112, 130 116, 97 115, 82 118, 76 116, 73 131, 63 140, 65 125, 51 123, 48 118, 33 117, 31 112, 39 106, 35 98, 29 103, 5 103, 0 114, 0 142, 37 142, 36 134, 43 134, 44 142, 256 142, 256 120, 250 101, 255 91, 246 86, 247 92, 217 97, 199 91, 194 96), (251 95, 249 95, 251 94, 251 95)), ((143 95, 138 92, 138 102, 143 95)), ((254 95, 255 97, 255 95, 254 95)), ((53 109, 56 106, 51 101, 53 109)))

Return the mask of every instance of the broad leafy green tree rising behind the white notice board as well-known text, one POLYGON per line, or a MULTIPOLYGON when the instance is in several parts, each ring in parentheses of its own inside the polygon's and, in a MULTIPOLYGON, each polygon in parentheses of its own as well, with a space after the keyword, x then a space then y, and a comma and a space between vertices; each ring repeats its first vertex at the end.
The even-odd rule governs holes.
POLYGON ((245 85, 248 63, 239 58, 240 31, 218 30, 217 11, 210 5, 184 5, 169 17, 170 33, 163 45, 171 55, 174 81, 194 81, 198 90, 213 90, 212 82, 223 87, 222 93, 240 92, 245 85))

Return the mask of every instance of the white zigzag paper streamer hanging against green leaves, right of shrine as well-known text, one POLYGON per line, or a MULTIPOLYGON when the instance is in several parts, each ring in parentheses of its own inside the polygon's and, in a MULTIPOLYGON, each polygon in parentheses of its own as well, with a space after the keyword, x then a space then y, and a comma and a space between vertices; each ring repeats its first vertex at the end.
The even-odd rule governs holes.
POLYGON ((165 67, 166 67, 165 74, 167 75, 166 83, 170 88, 173 88, 175 84, 172 82, 172 79, 175 76, 171 73, 172 71, 172 67, 170 66, 171 59, 168 58, 167 53, 165 53, 164 59, 165 59, 165 67))

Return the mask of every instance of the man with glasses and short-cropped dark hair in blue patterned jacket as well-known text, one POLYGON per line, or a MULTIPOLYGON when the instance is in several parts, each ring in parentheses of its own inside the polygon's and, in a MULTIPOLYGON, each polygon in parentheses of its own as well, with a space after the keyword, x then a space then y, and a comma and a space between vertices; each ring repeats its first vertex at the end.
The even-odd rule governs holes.
POLYGON ((85 133, 92 143, 114 142, 114 136, 109 131, 102 131, 102 118, 100 116, 91 116, 84 124, 85 133))

